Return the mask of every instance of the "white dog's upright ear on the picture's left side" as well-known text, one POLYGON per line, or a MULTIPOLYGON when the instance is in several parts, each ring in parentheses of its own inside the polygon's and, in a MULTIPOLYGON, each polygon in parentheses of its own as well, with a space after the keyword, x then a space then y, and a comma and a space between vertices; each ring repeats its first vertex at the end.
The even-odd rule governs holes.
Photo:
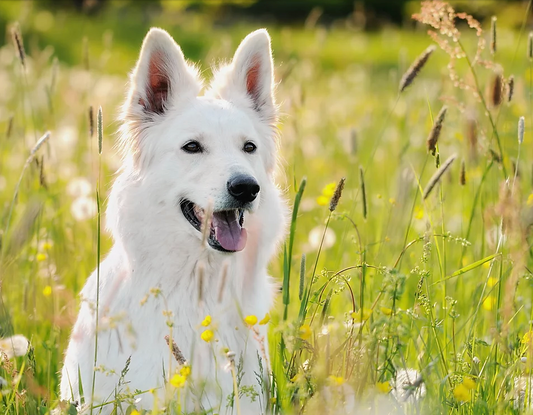
POLYGON ((174 39, 162 29, 150 29, 131 74, 124 115, 130 120, 151 119, 180 100, 196 97, 200 89, 196 69, 187 64, 174 39))

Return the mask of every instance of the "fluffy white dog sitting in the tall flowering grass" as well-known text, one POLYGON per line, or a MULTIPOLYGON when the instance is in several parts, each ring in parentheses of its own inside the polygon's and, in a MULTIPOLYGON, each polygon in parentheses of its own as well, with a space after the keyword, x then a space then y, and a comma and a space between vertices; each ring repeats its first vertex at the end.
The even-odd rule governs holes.
POLYGON ((265 410, 266 326, 243 319, 272 305, 266 268, 286 216, 266 30, 201 89, 170 35, 150 30, 123 110, 124 165, 107 209, 115 244, 81 292, 61 377, 61 398, 93 413, 172 401, 265 410))

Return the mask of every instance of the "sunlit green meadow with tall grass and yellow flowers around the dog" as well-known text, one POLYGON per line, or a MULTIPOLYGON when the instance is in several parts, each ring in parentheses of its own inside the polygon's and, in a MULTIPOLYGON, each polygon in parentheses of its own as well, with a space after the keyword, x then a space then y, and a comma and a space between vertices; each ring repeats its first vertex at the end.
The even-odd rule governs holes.
MULTIPOLYGON (((58 372, 78 293, 111 246, 97 218, 146 31, 168 30, 209 77, 266 26, 293 209, 271 264, 269 413, 532 413, 531 1, 481 24, 412 6, 419 23, 365 32, 356 16, 289 27, 0 2, 0 412, 75 413, 58 372)), ((122 399, 117 413, 138 413, 135 393, 122 399)))

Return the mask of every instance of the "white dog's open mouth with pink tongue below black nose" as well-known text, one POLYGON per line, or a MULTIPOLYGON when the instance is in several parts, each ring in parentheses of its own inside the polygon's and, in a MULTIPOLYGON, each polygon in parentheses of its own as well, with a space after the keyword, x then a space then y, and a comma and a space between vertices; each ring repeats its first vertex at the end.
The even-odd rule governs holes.
MULTIPOLYGON (((183 216, 198 231, 202 231, 205 211, 187 199, 180 203, 183 216)), ((244 209, 229 209, 213 212, 207 242, 211 248, 222 252, 242 251, 246 246, 247 233, 243 228, 244 209)))

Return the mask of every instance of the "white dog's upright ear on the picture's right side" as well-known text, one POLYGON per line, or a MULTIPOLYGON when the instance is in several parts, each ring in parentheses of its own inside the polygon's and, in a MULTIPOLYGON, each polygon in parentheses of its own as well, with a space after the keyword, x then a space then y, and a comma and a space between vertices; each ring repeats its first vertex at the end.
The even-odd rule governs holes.
POLYGON ((269 124, 277 121, 270 36, 265 29, 241 42, 233 61, 215 75, 212 91, 220 98, 256 111, 269 124))

